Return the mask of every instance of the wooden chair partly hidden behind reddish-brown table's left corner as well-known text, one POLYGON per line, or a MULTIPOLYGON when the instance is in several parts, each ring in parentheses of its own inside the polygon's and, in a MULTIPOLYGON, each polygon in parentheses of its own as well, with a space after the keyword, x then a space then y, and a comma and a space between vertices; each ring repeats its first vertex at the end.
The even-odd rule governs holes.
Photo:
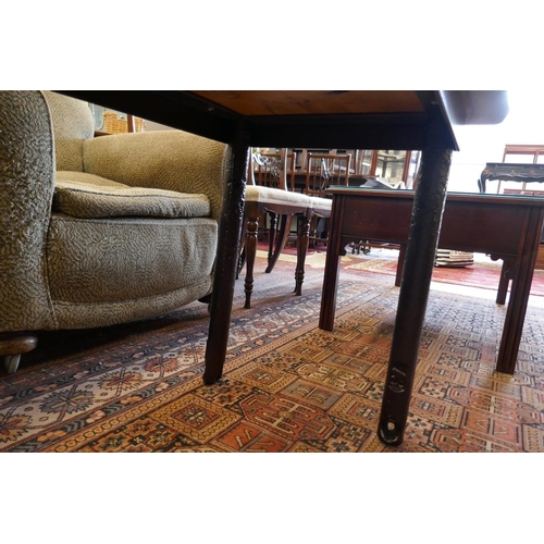
MULTIPOLYGON (((331 185, 348 185, 350 175, 350 153, 308 153, 306 159, 306 188, 305 193, 317 198, 312 207, 310 225, 310 244, 326 242, 326 228, 319 235, 318 224, 320 219, 331 217, 331 207, 322 202, 325 190, 331 185)), ((327 200, 327 199, 326 199, 327 200)))

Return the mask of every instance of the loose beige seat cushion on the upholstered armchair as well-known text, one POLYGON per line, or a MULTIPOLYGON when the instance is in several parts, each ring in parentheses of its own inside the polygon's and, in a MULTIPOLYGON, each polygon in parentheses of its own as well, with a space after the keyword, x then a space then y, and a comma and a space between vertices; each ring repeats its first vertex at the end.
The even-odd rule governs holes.
POLYGON ((206 195, 129 187, 85 172, 57 172, 53 211, 74 218, 207 218, 206 195))

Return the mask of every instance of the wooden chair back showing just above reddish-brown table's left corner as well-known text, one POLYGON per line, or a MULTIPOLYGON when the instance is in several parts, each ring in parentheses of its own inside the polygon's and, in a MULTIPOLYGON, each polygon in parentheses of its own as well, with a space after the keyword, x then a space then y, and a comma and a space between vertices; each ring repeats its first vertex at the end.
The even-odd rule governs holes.
POLYGON ((331 185, 347 185, 351 154, 308 153, 306 160, 306 194, 323 196, 331 185))

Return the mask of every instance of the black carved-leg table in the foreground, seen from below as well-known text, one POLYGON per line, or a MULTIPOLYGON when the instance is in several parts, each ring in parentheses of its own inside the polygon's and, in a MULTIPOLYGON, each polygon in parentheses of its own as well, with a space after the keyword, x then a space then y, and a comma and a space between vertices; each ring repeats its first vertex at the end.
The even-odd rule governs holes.
MULTIPOLYGON (((62 90, 89 102, 124 111, 228 144, 218 260, 210 305, 210 329, 203 381, 223 372, 234 296, 238 240, 244 217, 249 147, 422 150, 413 199, 415 225, 405 261, 399 310, 423 324, 444 207, 455 124, 500 123, 508 113, 506 91, 487 90, 62 90), (406 281, 409 271, 417 281, 406 281), (419 298, 405 308, 404 292, 419 298), (404 310, 403 310, 404 308, 404 310)), ((393 346, 397 345, 397 335, 393 346)), ((415 366, 420 333, 405 345, 409 360, 390 361, 391 369, 415 366)), ((405 343, 406 344, 406 343, 405 343)), ((392 350, 393 353, 394 350, 392 350)), ((395 371, 396 372, 396 371, 395 371)), ((395 374, 397 376, 397 374, 395 374)), ((394 378, 395 378, 394 376, 394 378)), ((395 378, 397 379, 397 378, 395 378)), ((386 378, 379 436, 403 442, 411 384, 398 394, 386 378), (390 398, 393 395, 393 399, 390 398)))

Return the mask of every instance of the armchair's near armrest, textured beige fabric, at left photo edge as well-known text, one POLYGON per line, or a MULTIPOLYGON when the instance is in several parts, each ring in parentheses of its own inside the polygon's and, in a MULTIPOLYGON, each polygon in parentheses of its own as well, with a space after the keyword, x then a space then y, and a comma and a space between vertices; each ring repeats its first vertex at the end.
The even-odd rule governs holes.
POLYGON ((0 91, 0 332, 47 327, 54 146, 44 95, 0 91))

